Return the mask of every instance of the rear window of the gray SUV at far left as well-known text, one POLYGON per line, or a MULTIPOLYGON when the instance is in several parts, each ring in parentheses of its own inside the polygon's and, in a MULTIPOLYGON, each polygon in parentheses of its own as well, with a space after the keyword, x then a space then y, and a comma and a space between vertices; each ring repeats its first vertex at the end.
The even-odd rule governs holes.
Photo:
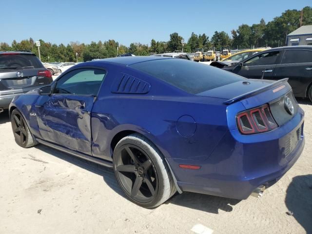
POLYGON ((12 69, 32 69, 43 68, 42 63, 36 55, 27 54, 0 54, 0 71, 7 71, 12 69))

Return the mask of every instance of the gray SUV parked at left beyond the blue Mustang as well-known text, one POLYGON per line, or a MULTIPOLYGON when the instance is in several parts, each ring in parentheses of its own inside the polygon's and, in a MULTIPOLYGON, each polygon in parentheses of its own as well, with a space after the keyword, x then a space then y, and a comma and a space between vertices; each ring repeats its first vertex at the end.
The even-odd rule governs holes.
POLYGON ((37 56, 25 51, 0 51, 0 113, 11 100, 53 81, 37 56))

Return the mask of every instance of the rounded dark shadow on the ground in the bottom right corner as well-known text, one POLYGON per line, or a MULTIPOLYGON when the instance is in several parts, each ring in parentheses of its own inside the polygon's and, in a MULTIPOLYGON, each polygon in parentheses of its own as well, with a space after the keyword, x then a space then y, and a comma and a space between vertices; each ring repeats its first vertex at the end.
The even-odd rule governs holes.
POLYGON ((285 203, 293 217, 312 233, 312 175, 295 176, 287 188, 285 203))

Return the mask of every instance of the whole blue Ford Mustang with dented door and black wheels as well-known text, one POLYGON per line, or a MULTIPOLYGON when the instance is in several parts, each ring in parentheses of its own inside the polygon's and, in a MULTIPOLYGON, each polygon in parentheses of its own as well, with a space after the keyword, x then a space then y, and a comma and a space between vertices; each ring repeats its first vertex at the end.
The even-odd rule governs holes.
POLYGON ((13 99, 21 147, 41 143, 113 167, 130 200, 156 207, 183 191, 261 195, 304 147, 287 79, 245 79, 184 59, 80 63, 13 99))

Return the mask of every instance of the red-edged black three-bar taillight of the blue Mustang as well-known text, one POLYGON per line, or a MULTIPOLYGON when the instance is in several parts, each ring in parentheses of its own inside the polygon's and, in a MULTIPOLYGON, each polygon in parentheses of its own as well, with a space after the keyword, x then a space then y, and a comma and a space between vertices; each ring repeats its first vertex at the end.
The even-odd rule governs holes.
POLYGON ((240 112, 236 117, 236 121, 242 134, 263 133, 277 128, 267 104, 240 112))

